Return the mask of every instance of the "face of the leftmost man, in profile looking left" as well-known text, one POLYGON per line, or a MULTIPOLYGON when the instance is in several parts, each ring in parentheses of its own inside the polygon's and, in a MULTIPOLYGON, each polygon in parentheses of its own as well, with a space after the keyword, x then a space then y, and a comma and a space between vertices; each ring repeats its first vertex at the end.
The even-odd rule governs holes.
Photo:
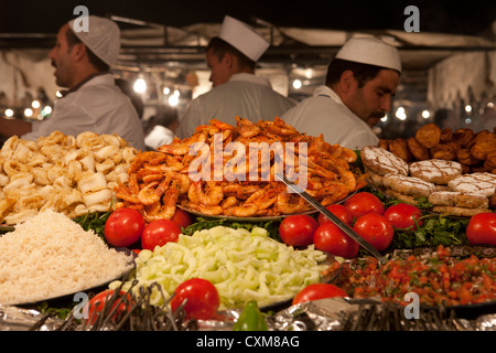
POLYGON ((55 46, 48 54, 52 60, 52 66, 56 69, 54 72, 55 83, 61 87, 71 88, 72 86, 72 65, 71 65, 71 53, 72 50, 67 45, 66 31, 68 30, 68 24, 61 28, 57 33, 57 39, 55 46))

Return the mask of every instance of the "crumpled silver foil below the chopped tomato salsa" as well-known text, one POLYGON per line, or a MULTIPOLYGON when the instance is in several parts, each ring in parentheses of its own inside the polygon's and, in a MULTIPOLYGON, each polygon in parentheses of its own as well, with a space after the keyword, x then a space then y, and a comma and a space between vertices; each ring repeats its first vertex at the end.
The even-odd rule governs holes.
POLYGON ((439 309, 407 319, 403 308, 375 299, 315 300, 281 310, 268 321, 276 331, 496 331, 496 313, 466 320, 439 309))

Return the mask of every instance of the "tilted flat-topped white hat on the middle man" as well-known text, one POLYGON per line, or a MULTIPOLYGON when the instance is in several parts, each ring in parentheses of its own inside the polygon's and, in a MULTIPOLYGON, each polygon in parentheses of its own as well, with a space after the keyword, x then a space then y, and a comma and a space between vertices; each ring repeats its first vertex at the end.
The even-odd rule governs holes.
POLYGON ((257 62, 270 45, 263 36, 248 24, 229 15, 224 18, 218 36, 254 62, 257 62))

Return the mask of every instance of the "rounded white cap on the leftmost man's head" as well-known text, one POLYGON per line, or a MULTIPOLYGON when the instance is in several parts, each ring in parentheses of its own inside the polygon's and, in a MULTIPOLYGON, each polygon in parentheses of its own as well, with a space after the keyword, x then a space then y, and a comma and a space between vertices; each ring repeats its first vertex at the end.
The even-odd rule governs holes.
POLYGON ((104 63, 111 66, 120 51, 120 30, 117 23, 93 14, 88 17, 86 29, 83 25, 75 28, 75 21, 73 19, 68 22, 74 34, 104 63))

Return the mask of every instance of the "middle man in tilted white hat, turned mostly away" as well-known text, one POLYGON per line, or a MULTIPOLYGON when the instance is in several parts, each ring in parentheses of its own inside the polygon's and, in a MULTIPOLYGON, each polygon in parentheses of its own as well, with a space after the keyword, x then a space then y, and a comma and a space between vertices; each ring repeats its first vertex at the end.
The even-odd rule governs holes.
POLYGON ((256 64, 268 47, 255 29, 226 15, 219 35, 211 40, 205 54, 213 89, 188 104, 180 118, 177 136, 191 137, 197 126, 214 118, 236 126, 236 116, 251 121, 273 120, 293 107, 293 100, 255 75, 256 64))

